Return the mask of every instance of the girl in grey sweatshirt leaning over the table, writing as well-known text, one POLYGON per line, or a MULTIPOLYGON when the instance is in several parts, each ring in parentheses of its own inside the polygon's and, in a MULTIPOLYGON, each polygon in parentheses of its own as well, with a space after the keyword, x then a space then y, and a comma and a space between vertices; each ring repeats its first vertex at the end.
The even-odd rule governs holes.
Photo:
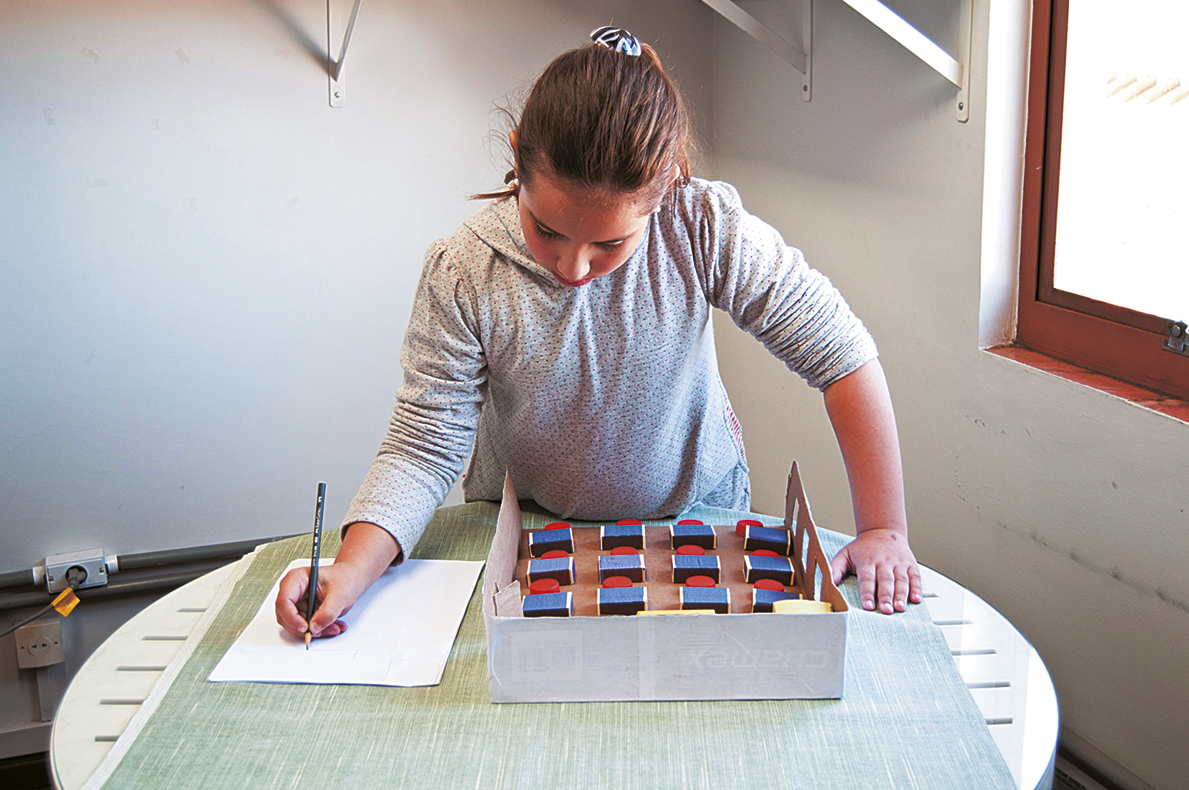
MULTIPOLYGON (((466 499, 516 491, 566 519, 747 510, 742 433, 718 376, 726 311, 824 393, 858 537, 832 563, 867 609, 920 601, 900 453, 875 344, 841 295, 728 184, 690 176, 685 105, 623 30, 558 57, 509 134, 508 187, 426 255, 404 381, 376 460, 319 573, 315 637, 421 535, 473 453, 466 499)), ((277 621, 302 635, 308 571, 277 621)))

